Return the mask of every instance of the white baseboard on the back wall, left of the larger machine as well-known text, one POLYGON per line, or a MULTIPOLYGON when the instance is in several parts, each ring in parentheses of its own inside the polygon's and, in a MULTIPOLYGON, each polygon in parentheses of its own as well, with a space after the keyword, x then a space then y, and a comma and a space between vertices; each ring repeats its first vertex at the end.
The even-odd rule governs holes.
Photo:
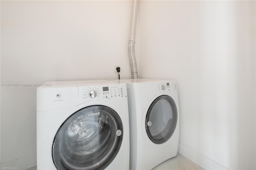
POLYGON ((1 164, 1 170, 26 170, 33 166, 36 166, 36 154, 4 162, 1 164))

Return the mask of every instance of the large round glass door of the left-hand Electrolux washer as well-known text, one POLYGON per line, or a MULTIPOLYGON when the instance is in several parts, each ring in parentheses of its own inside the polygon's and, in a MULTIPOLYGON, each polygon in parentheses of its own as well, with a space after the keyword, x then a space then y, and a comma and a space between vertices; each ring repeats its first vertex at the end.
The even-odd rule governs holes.
POLYGON ((123 126, 109 107, 94 105, 72 114, 58 129, 52 159, 58 170, 106 168, 116 157, 123 126))

